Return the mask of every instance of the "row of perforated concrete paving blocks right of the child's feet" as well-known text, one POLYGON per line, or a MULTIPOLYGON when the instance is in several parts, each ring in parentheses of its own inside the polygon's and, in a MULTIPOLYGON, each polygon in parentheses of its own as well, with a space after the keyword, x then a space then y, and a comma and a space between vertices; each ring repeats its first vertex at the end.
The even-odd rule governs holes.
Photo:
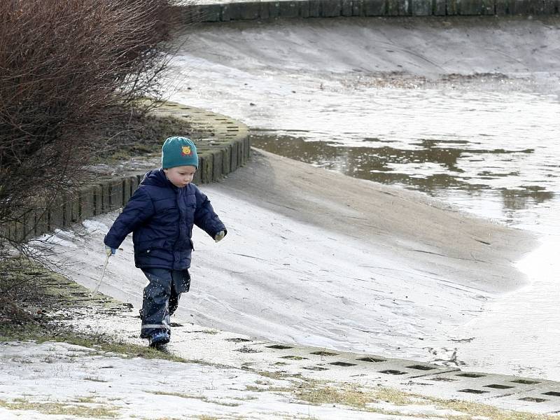
MULTIPOLYGON (((234 341, 235 338, 231 340, 234 341)), ((252 347, 252 344, 253 342, 248 345, 252 347)), ((352 377, 359 376, 364 381, 384 381, 389 384, 407 381, 411 391, 415 388, 414 391, 433 394, 437 398, 480 400, 498 407, 524 407, 538 413, 552 413, 560 406, 560 383, 545 379, 464 372, 457 367, 440 366, 428 361, 385 358, 377 354, 356 354, 325 347, 286 345, 279 342, 255 344, 263 350, 274 349, 269 352, 270 356, 278 360, 276 364, 285 365, 283 369, 314 375, 318 379, 345 377, 353 380, 352 377), (319 362, 319 358, 323 361, 319 362), (356 374, 357 370, 359 374, 356 374), (422 383, 408 380, 415 378, 421 378, 422 383), (428 389, 430 387, 426 385, 430 384, 437 385, 428 389), (423 389, 419 390, 419 386, 423 389)))

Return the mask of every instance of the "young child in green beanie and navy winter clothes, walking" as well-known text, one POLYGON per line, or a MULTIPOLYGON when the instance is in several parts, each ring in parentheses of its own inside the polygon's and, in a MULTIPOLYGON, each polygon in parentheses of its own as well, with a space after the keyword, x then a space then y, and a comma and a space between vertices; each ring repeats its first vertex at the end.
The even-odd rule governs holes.
POLYGON ((133 232, 134 262, 148 278, 140 311, 140 337, 150 346, 169 342, 169 317, 181 293, 190 287, 193 225, 216 242, 228 231, 206 195, 193 183, 198 168, 195 144, 186 137, 169 137, 162 146, 162 168, 148 172, 107 233, 107 255, 133 232))

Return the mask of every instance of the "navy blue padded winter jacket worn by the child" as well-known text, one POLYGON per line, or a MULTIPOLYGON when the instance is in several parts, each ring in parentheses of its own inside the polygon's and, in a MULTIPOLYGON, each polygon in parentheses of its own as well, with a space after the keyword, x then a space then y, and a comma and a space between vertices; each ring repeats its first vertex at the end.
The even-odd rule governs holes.
POLYGON ((155 169, 144 176, 104 242, 118 248, 134 232, 137 267, 186 269, 193 251, 193 224, 213 238, 225 230, 207 196, 197 186, 190 183, 177 188, 162 169, 155 169))

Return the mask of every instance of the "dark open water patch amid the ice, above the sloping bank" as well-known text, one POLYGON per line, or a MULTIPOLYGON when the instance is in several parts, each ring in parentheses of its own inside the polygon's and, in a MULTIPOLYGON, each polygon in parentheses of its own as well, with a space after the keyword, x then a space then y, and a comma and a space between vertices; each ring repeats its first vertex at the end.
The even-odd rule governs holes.
MULTIPOLYGON (((306 162, 360 179, 403 186, 434 197, 460 190, 470 196, 492 193, 501 201, 505 211, 526 209, 554 198, 554 193, 538 185, 519 185, 515 188, 497 188, 491 181, 519 176, 512 165, 504 171, 503 162, 510 155, 528 155, 532 148, 506 150, 485 149, 468 141, 422 139, 410 146, 394 147, 393 141, 366 138, 367 146, 344 146, 335 141, 309 141, 305 137, 291 137, 275 132, 254 130, 251 144, 286 158, 306 162), (500 167, 479 167, 476 171, 461 168, 459 160, 484 160, 493 155, 501 161, 500 167)), ((395 146, 397 146, 395 144, 395 146)))

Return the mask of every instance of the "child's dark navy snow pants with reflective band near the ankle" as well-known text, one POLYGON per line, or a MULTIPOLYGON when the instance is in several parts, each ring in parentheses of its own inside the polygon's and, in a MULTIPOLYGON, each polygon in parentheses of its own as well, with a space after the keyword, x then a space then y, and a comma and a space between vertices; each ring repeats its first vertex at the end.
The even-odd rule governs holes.
POLYGON ((155 332, 171 332, 169 317, 179 306, 181 293, 190 288, 188 269, 142 268, 148 278, 142 303, 141 338, 149 338, 155 332))

